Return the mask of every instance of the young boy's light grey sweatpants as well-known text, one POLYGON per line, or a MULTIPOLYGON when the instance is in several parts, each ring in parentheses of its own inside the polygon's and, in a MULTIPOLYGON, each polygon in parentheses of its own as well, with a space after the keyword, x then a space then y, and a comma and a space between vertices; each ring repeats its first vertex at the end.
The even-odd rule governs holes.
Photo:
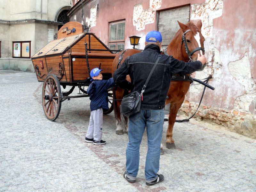
POLYGON ((88 139, 94 139, 100 141, 102 137, 103 126, 103 109, 99 108, 91 111, 90 122, 87 130, 86 137, 88 139))

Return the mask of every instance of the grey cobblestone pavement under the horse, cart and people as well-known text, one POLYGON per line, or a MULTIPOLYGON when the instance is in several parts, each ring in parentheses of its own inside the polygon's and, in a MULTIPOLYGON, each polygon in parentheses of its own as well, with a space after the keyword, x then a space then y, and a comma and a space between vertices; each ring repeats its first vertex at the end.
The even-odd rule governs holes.
MULTIPOLYGON (((94 146, 84 141, 89 98, 64 101, 51 122, 35 73, 0 70, 0 82, 0 191, 256 191, 255 140, 210 124, 176 123, 177 148, 164 146, 160 158, 164 181, 147 186, 145 132, 131 184, 123 178, 128 137, 116 135, 113 112, 103 117, 107 144, 94 146)), ((163 143, 166 130, 167 122, 163 143)))

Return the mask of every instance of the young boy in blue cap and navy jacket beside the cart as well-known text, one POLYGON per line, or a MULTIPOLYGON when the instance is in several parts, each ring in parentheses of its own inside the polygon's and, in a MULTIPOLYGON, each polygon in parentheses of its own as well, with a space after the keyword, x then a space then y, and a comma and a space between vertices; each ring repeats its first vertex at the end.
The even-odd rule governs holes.
POLYGON ((102 80, 102 69, 92 69, 90 75, 93 82, 87 89, 87 94, 90 95, 91 116, 90 122, 85 136, 86 142, 91 142, 94 145, 106 144, 106 141, 101 140, 103 126, 103 109, 108 109, 108 88, 113 87, 115 82, 113 78, 102 80))

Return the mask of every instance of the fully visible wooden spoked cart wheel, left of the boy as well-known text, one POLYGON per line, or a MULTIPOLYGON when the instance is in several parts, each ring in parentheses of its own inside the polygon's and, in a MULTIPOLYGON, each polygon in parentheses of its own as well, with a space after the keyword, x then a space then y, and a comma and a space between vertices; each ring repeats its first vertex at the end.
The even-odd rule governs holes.
POLYGON ((42 102, 44 114, 50 121, 58 118, 61 108, 60 82, 55 75, 48 75, 44 80, 42 102))

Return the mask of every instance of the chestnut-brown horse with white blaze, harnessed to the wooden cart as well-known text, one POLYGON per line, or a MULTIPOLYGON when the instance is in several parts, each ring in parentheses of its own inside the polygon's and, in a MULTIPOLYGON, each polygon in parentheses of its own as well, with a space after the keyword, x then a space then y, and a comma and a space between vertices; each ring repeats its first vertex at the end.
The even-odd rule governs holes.
MULTIPOLYGON (((203 47, 205 39, 201 34, 202 21, 199 20, 196 25, 191 21, 188 22, 186 25, 178 21, 178 24, 180 26, 180 29, 172 38, 172 41, 167 47, 166 53, 184 62, 188 62, 189 60, 196 61, 198 54, 204 54, 203 47)), ((118 68, 120 63, 122 64, 122 62, 124 62, 124 60, 128 56, 137 52, 139 51, 135 49, 128 49, 125 52, 121 53, 122 55, 118 54, 113 61, 112 74, 118 68)), ((165 101, 165 105, 170 103, 170 114, 168 119, 169 125, 166 132, 167 148, 175 148, 174 140, 172 138, 173 125, 175 123, 178 110, 181 107, 190 86, 190 79, 188 78, 189 74, 184 77, 180 77, 178 75, 174 75, 173 77, 174 78, 172 78, 169 91, 167 93, 168 98, 165 101)), ((117 88, 114 94, 116 94, 116 99, 122 99, 124 90, 117 88)), ((114 110, 117 119, 116 133, 123 134, 123 130, 120 126, 121 117, 119 107, 121 100, 118 100, 114 103, 114 110)), ((127 120, 125 120, 125 123, 126 122, 127 120)))

